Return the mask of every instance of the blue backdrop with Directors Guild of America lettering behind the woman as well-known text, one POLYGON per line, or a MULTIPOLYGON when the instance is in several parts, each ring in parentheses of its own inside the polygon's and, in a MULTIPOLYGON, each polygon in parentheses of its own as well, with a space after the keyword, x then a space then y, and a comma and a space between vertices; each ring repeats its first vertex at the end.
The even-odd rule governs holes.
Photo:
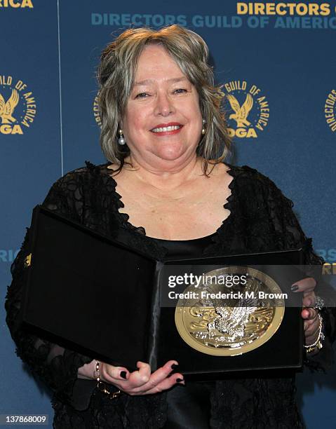
MULTIPOLYGON (((294 200, 316 252, 335 264, 335 0, 259 2, 257 9, 234 0, 121 3, 0 1, 0 100, 15 104, 9 116, 0 111, 1 302, 32 207, 60 175, 85 160, 104 161, 95 67, 102 48, 130 26, 177 23, 203 36, 217 83, 234 97, 228 117, 235 102, 253 102, 248 123, 229 119, 234 163, 273 179, 294 200)), ((48 392, 15 356, 3 306, 0 317, 0 414, 49 414, 51 427, 48 392)), ((307 428, 335 428, 335 371, 297 379, 307 428)))

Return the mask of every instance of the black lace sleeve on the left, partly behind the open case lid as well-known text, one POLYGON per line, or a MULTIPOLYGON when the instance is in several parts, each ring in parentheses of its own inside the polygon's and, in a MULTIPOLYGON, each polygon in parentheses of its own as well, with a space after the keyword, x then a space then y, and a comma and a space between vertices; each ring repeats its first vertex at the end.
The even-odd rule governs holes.
MULTIPOLYGON (((50 210, 80 221, 81 198, 79 198, 78 187, 74 186, 71 181, 65 182, 64 179, 60 179, 56 182, 46 196, 43 205, 50 210)), ((21 250, 11 266, 13 280, 6 295, 6 322, 15 341, 17 355, 27 363, 34 375, 53 390, 59 400, 76 407, 73 390, 76 383, 79 382, 77 381, 77 369, 90 362, 92 358, 38 338, 20 322, 22 292, 26 282, 24 263, 25 257, 29 254, 29 233, 30 231, 27 229, 21 250)))

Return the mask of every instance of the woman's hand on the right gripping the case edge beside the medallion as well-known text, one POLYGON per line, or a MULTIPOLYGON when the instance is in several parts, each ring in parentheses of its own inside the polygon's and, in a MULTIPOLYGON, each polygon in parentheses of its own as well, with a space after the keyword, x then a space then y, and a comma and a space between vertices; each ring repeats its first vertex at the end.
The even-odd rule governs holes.
MULTIPOLYGON (((314 307, 316 304, 316 295, 314 292, 316 280, 312 277, 304 278, 292 285, 293 292, 303 292, 302 305, 304 307, 314 307), (295 288, 297 286, 297 288, 295 288)), ((320 328, 318 311, 315 308, 303 308, 301 312, 304 319, 304 337, 307 346, 313 344, 320 328)))

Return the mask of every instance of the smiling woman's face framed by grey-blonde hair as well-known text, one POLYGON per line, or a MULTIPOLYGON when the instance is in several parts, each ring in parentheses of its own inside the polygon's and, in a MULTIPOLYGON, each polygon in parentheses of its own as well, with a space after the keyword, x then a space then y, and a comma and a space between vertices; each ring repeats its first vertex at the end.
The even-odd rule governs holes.
POLYGON ((137 161, 159 166, 194 157, 199 95, 162 46, 149 45, 140 55, 122 128, 137 161))

